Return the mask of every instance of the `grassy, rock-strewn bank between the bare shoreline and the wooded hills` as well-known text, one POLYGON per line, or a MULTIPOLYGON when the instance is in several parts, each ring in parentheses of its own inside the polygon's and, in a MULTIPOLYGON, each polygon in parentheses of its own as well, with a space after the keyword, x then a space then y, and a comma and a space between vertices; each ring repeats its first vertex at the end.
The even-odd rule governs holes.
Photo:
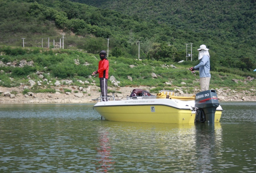
MULTIPOLYGON (((31 89, 31 92, 55 92, 51 89, 51 86, 47 82, 43 82, 42 86, 37 85, 37 81, 42 79, 38 78, 36 71, 43 73, 44 78, 54 84, 56 81, 72 80, 71 86, 75 89, 79 87, 87 88, 88 84, 83 84, 78 82, 89 81, 92 83, 95 80, 96 86, 99 85, 99 78, 92 77, 88 78, 86 76, 91 75, 93 71, 98 68, 99 57, 98 55, 83 53, 81 51, 75 50, 54 50, 54 49, 42 49, 42 48, 10 48, 1 47, 0 52, 2 54, 1 61, 5 64, 8 62, 20 63, 21 60, 25 59, 28 61, 33 61, 33 67, 10 67, 2 66, 0 70, 0 86, 2 87, 17 87, 20 83, 29 85, 28 77, 36 82, 36 86, 31 89), (13 51, 13 52, 12 52, 13 51), (18 53, 17 53, 18 52, 18 53), (96 57, 96 58, 95 58, 96 57), (79 60, 80 64, 75 64, 75 59, 79 60), (85 62, 90 65, 84 66, 85 62), (48 75, 49 74, 49 75, 48 75), (46 88, 46 89, 45 89, 46 88)), ((189 62, 185 64, 173 63, 173 62, 161 62, 155 60, 143 59, 138 61, 136 59, 124 58, 124 57, 109 57, 109 77, 113 75, 120 87, 130 86, 136 88, 138 86, 149 86, 156 87, 150 92, 157 93, 159 90, 174 90, 174 88, 181 88, 186 90, 188 93, 192 93, 195 88, 200 88, 199 73, 196 72, 196 76, 192 75, 188 69, 191 65, 189 62), (162 67, 163 64, 171 65, 173 64, 177 68, 173 67, 162 67), (130 65, 135 67, 131 68, 130 65), (156 78, 151 77, 151 73, 157 75, 156 78), (130 81, 127 76, 132 77, 130 81), (145 77, 147 76, 147 77, 145 77), (165 84, 165 82, 170 82, 171 85, 165 84), (186 84, 181 84, 185 82, 186 84)), ((197 61, 191 62, 191 64, 196 64, 197 61)), ((225 69, 224 67, 218 68, 218 71, 211 71, 211 81, 210 88, 230 88, 232 90, 249 90, 255 88, 256 80, 252 82, 247 82, 246 85, 244 81, 247 76, 255 77, 255 72, 243 72, 239 69, 225 69), (231 73, 232 72, 232 73, 231 73), (238 83, 232 81, 232 79, 237 79, 238 83)), ((63 83, 64 92, 71 92, 71 90, 66 89, 66 83, 63 83)), ((111 81, 108 80, 108 86, 114 87, 111 81)), ((23 90, 23 93, 28 92, 28 90, 23 90)), ((74 91, 78 92, 78 91, 74 91)), ((116 92, 115 90, 109 90, 109 93, 116 92)))

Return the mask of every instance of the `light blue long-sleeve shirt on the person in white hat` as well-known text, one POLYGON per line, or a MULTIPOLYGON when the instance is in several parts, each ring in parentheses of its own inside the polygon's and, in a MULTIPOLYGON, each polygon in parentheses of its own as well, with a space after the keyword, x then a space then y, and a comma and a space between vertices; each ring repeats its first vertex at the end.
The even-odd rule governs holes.
POLYGON ((204 55, 202 59, 200 59, 200 63, 196 65, 195 70, 199 70, 200 77, 211 77, 210 74, 210 57, 208 55, 204 55))

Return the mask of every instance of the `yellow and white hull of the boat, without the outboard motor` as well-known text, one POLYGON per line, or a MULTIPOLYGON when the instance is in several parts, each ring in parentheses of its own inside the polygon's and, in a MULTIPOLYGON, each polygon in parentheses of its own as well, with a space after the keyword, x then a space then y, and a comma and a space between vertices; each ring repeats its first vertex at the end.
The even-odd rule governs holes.
MULTIPOLYGON (((194 123, 195 101, 175 99, 117 100, 98 102, 95 109, 104 119, 124 122, 194 123), (150 104, 151 103, 151 104, 150 104)), ((221 107, 216 110, 214 122, 219 122, 221 107)))

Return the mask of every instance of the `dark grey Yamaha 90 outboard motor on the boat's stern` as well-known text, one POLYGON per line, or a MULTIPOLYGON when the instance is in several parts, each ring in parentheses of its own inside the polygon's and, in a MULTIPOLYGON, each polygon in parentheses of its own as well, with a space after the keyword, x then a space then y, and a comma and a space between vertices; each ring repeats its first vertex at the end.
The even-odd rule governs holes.
POLYGON ((216 90, 207 90, 196 94, 196 122, 214 123, 216 108, 219 106, 216 90))

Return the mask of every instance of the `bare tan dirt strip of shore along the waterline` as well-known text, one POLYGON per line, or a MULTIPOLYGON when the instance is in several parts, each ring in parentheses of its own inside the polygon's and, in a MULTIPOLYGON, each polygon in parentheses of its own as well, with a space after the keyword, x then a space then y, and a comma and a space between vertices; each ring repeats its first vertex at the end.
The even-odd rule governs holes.
MULTIPOLYGON (((0 87, 0 91, 2 92, 11 92, 15 93, 14 98, 4 96, 4 93, 0 94, 0 103, 94 103, 96 101, 92 101, 92 99, 98 98, 100 96, 100 88, 97 86, 89 86, 86 88, 86 91, 83 92, 81 98, 76 97, 75 90, 77 91, 78 87, 74 86, 60 86, 60 87, 53 87, 56 90, 60 90, 60 93, 33 93, 32 96, 25 96, 22 94, 23 87, 13 87, 13 88, 4 88, 0 87), (70 89, 72 92, 70 95, 65 94, 63 92, 63 88, 70 89), (75 88, 75 89, 74 89, 75 88), (62 93, 63 92, 63 93, 62 93)), ((150 87, 136 87, 144 90, 150 90, 150 87)), ((112 88, 108 87, 110 90, 115 90, 115 96, 119 96, 118 98, 125 98, 127 95, 131 94, 131 91, 134 89, 132 87, 118 87, 112 88)), ((79 91, 81 93, 81 91, 79 91)), ((176 93, 178 96, 193 96, 196 94, 180 94, 179 92, 176 93)), ((112 95, 109 93, 108 95, 112 95)), ((155 94, 154 94, 155 95, 155 94)), ((243 92, 236 92, 232 93, 228 90, 223 90, 223 93, 218 95, 220 101, 256 101, 256 95, 250 91, 243 91, 243 92)))

